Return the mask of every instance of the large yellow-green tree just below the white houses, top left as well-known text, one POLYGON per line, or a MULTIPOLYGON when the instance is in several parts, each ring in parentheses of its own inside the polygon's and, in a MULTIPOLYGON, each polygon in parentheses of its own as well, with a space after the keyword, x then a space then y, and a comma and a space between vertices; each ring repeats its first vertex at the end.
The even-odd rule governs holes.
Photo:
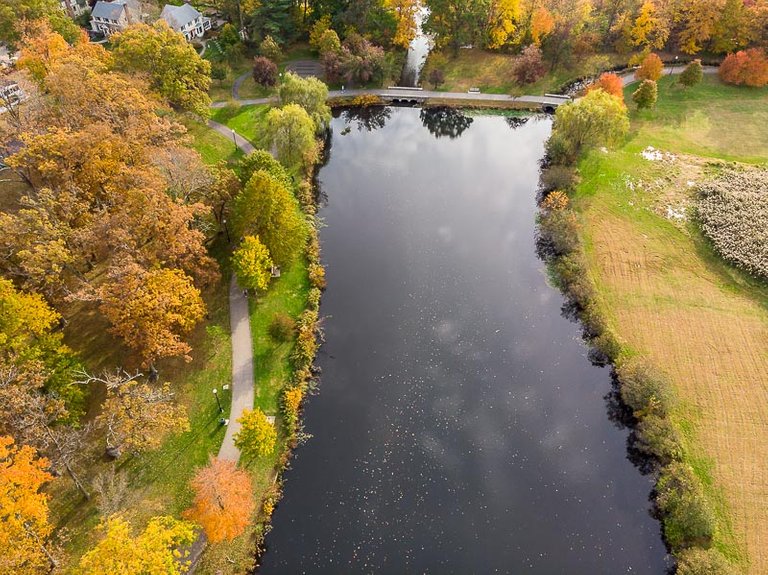
POLYGON ((171 104, 208 115, 210 62, 164 20, 152 26, 134 24, 113 34, 110 41, 115 69, 147 74, 152 88, 171 104))

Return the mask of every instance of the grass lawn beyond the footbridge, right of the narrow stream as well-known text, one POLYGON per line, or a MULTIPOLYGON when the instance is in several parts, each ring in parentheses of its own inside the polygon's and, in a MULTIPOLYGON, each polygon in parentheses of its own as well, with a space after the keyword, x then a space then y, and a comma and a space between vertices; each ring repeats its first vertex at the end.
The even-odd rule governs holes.
MULTIPOLYGON (((466 92, 470 88, 480 88, 488 94, 544 94, 556 91, 572 78, 584 75, 590 66, 589 60, 579 60, 573 66, 559 67, 547 73, 535 84, 520 86, 514 79, 516 56, 486 52, 479 48, 461 49, 455 56, 446 53, 448 60, 443 71, 445 84, 440 90, 446 92, 466 92)), ((603 57, 604 64, 618 63, 616 55, 603 57)), ((429 63, 429 62, 428 62, 429 63)), ((431 88, 426 77, 422 78, 424 87, 431 88)))

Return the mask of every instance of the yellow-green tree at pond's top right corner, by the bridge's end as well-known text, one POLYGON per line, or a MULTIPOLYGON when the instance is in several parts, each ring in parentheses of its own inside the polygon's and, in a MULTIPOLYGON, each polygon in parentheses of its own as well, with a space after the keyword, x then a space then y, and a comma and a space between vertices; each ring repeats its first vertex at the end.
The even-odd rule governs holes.
POLYGON ((565 155, 572 160, 589 148, 616 144, 628 131, 626 106, 603 90, 560 106, 555 115, 556 141, 567 147, 565 155))

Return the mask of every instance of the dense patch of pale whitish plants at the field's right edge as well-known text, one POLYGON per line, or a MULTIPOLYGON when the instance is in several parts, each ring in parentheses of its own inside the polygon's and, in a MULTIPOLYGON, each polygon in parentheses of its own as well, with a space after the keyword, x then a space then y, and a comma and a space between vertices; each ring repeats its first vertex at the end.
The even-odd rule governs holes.
POLYGON ((768 279, 768 170, 728 171, 703 184, 696 213, 720 255, 768 279))

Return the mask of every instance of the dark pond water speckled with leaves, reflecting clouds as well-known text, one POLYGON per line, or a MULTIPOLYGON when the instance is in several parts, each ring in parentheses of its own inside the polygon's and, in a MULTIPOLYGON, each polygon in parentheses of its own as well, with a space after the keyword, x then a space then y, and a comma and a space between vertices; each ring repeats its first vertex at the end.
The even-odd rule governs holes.
POLYGON ((260 572, 663 573, 609 372, 536 257, 549 120, 388 113, 332 125, 314 437, 260 572))

